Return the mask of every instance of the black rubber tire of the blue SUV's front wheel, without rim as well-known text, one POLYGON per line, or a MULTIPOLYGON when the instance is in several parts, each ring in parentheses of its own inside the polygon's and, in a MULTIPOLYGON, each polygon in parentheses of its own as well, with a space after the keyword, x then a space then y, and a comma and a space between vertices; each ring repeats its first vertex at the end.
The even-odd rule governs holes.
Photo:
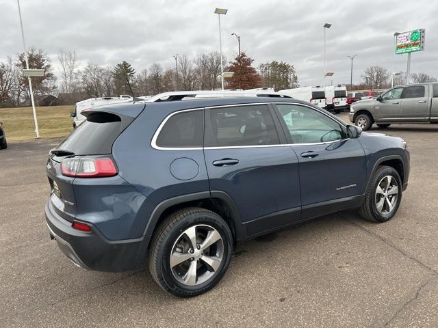
MULTIPOLYGON (((392 188, 395 188, 394 186, 395 185, 393 184, 392 188)), ((365 200, 361 208, 359 208, 359 214, 361 215, 361 217, 363 217, 363 219, 368 221, 378 222, 378 223, 386 222, 389 221, 392 217, 394 217, 394 215, 396 215, 401 200, 402 200, 402 180, 400 179, 400 175, 398 174, 396 169, 394 169, 394 167, 379 166, 371 178, 370 185, 368 186, 368 190, 365 195, 365 200), (394 208, 391 211, 388 211, 389 213, 385 214, 385 213, 381 213, 377 209, 376 202, 378 196, 376 194, 376 190, 378 188, 379 182, 381 182, 382 179, 387 176, 394 177, 395 181, 397 182, 396 188, 398 191, 397 193, 398 197, 396 198, 396 200, 394 200, 394 204, 393 204, 394 208)), ((383 200, 383 202, 385 203, 386 201, 383 200)))

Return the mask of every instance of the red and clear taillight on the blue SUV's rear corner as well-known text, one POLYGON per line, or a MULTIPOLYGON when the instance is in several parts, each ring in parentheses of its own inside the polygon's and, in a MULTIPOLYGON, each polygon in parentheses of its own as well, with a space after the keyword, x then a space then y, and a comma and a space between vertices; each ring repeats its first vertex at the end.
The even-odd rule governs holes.
POLYGON ((112 159, 109 158, 90 159, 86 157, 73 157, 62 161, 61 172, 64 176, 76 178, 101 178, 115 176, 117 169, 112 159))

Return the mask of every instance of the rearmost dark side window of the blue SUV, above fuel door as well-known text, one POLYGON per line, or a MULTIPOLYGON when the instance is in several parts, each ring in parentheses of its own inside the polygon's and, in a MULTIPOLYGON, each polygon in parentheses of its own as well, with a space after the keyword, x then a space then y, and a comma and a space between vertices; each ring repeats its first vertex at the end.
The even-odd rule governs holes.
POLYGON ((170 116, 157 137, 164 148, 200 148, 203 146, 204 111, 184 111, 170 116))

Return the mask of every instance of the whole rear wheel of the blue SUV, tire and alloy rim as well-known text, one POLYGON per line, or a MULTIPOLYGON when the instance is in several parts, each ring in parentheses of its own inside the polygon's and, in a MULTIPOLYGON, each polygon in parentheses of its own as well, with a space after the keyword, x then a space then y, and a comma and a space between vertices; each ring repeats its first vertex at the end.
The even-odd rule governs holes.
POLYGON ((193 297, 222 279, 231 259, 233 237, 211 210, 184 208, 157 228, 149 250, 155 282, 178 297, 193 297))

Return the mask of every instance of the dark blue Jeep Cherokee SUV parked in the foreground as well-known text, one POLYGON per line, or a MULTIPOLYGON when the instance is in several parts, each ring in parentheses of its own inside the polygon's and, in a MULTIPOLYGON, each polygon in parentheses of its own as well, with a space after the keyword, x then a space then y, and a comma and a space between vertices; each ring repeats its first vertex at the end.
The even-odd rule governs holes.
POLYGON ((51 236, 86 269, 138 269, 148 258, 157 284, 180 297, 217 284, 236 242, 347 208, 388 221, 408 184, 403 139, 292 98, 84 114, 49 154, 51 236))

